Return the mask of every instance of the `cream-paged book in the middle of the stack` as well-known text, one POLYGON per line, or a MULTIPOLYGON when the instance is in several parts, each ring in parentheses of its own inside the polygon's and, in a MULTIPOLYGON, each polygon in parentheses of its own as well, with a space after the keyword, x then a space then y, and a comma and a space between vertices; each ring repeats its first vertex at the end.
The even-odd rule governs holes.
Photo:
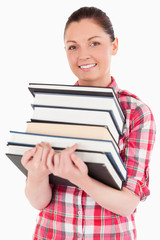
POLYGON ((27 122, 26 132, 64 137, 110 140, 113 142, 117 151, 119 151, 118 144, 106 126, 98 127, 78 124, 27 122))

